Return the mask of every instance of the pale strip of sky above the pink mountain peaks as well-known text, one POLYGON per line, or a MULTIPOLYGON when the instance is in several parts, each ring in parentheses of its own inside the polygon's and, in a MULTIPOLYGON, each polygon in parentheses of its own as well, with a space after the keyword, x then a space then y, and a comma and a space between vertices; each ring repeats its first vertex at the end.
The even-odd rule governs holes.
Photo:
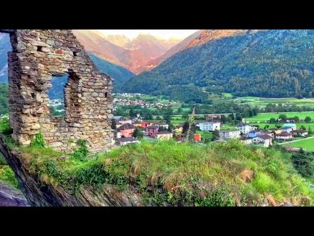
POLYGON ((186 38, 198 29, 99 29, 105 34, 122 34, 128 38, 135 38, 140 33, 151 34, 153 36, 168 38, 186 38))

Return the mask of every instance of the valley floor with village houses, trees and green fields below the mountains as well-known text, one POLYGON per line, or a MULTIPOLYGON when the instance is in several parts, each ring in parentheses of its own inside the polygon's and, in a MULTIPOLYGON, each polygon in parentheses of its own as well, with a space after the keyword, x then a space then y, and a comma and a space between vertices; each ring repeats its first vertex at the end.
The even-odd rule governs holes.
MULTIPOLYGON (((193 105, 185 105, 189 107, 184 108, 180 101, 157 99, 141 93, 114 93, 113 97, 113 113, 116 116, 112 119, 111 128, 117 146, 139 143, 141 139, 183 142, 188 139, 186 136, 190 129, 192 136, 189 141, 201 145, 238 139, 244 145, 265 148, 282 145, 289 151, 300 148, 312 151, 308 146, 313 146, 311 142, 314 141, 313 120, 310 117, 314 112, 261 113, 249 118, 238 118, 234 113, 194 114, 194 120, 189 124, 193 105), (133 108, 140 109, 137 110, 140 112, 136 113, 133 108), (170 115, 164 115, 169 110, 170 115), (148 115, 140 114, 147 111, 148 115), (121 112, 123 116, 118 116, 121 112), (158 112, 162 114, 156 115, 158 112), (289 115, 293 117, 289 118, 289 115), (301 115, 302 119, 296 115, 301 115), (301 142, 305 145, 302 146, 301 142)), ((63 115, 61 99, 51 100, 49 106, 54 115, 63 115)))

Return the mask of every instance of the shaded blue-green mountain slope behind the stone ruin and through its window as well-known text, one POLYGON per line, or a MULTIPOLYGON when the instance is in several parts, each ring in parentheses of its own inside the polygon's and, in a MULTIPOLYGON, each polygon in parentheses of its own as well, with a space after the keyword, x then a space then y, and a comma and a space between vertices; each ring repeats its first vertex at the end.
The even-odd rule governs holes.
MULTIPOLYGON (((0 33, 0 83, 8 83, 7 75, 7 52, 12 50, 8 34, 0 33)), ((95 65, 106 75, 114 79, 114 91, 119 91, 121 85, 129 80, 134 74, 124 67, 110 63, 103 59, 89 54, 95 65)), ((48 91, 52 99, 63 97, 63 85, 67 81, 67 76, 55 77, 52 79, 52 89, 48 91)))

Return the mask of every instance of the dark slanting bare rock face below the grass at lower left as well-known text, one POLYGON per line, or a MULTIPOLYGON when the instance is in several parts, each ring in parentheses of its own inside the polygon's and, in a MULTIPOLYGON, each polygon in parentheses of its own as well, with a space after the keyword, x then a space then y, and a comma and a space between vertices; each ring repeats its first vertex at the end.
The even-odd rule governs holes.
MULTIPOLYGON (((13 169, 19 180, 21 190, 31 206, 41 207, 77 207, 77 206, 97 206, 97 207, 131 207, 142 206, 140 202, 140 194, 135 187, 121 192, 114 186, 106 184, 100 189, 91 186, 84 186, 78 193, 72 194, 68 189, 56 185, 47 185, 39 180, 37 176, 32 176, 26 169, 22 153, 17 149, 10 150, 0 137, 0 152, 13 169)), ((1 196, 5 196, 6 206, 26 206, 27 203, 21 195, 14 193, 13 190, 2 191, 1 196), (6 193, 4 193, 6 192, 6 193), (8 192, 11 192, 11 197, 8 192), (18 197, 16 197, 18 196, 18 197)))

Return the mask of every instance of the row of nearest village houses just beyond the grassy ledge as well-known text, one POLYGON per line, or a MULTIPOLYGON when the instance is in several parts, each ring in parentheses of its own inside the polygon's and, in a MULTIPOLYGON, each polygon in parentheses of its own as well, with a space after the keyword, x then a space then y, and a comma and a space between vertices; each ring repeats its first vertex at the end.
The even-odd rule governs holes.
MULTIPOLYGON (((234 115, 229 114, 228 116, 234 115)), ((275 120, 277 127, 270 128, 269 125, 265 125, 262 129, 259 124, 245 122, 245 118, 242 118, 232 129, 222 129, 226 115, 206 115, 203 121, 192 121, 193 123, 190 125, 193 133, 192 141, 204 145, 210 143, 209 141, 223 142, 229 139, 238 139, 244 145, 268 148, 278 144, 284 145, 288 151, 299 151, 300 148, 292 148, 288 144, 300 139, 311 139, 314 136, 311 135, 312 133, 309 134, 304 126, 297 128, 295 118, 282 117, 275 120), (211 135, 210 140, 205 138, 208 135, 211 135)), ((174 139, 182 142, 187 140, 190 122, 191 117, 185 122, 173 126, 171 120, 170 122, 166 120, 145 121, 138 114, 134 119, 114 117, 112 128, 114 128, 115 143, 118 146, 139 143, 141 138, 148 140, 174 139)), ((303 122, 303 120, 298 119, 298 122, 303 122)))

